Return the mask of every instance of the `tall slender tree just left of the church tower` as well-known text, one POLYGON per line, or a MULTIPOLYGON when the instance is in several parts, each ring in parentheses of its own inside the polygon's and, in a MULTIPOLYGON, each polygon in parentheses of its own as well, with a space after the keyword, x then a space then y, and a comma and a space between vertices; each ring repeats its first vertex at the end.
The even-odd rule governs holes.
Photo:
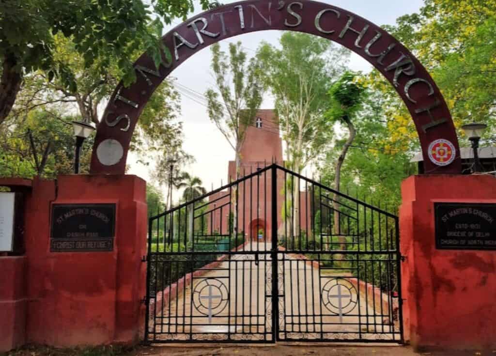
MULTIPOLYGON (((241 42, 229 44, 229 56, 219 44, 212 45, 211 51, 215 88, 206 92, 208 116, 235 152, 237 179, 241 174, 241 147, 246 129, 262 103, 262 72, 256 58, 248 60, 241 42)), ((236 188, 233 190, 235 207, 238 194, 236 188)), ((233 234, 238 228, 237 221, 237 209, 234 209, 233 234)))

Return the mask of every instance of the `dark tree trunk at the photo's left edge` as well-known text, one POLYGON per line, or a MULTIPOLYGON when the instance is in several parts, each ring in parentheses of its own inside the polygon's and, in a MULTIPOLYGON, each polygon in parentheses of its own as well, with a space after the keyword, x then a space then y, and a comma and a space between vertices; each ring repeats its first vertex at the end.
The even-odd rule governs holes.
POLYGON ((21 88, 22 72, 15 68, 17 60, 12 54, 7 54, 2 63, 0 80, 0 124, 5 121, 21 88))

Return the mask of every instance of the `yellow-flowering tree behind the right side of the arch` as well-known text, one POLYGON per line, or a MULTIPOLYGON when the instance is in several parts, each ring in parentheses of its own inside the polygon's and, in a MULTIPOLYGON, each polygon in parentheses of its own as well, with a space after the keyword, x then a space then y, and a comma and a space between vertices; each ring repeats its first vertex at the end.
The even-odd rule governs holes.
MULTIPOLYGON (((495 132, 496 47, 495 0, 425 0, 418 13, 397 19, 385 28, 424 64, 439 86, 460 127, 470 121, 490 125, 485 138, 495 132)), ((369 85, 382 93, 389 134, 383 146, 418 150, 415 125, 394 89, 378 71, 369 85)))

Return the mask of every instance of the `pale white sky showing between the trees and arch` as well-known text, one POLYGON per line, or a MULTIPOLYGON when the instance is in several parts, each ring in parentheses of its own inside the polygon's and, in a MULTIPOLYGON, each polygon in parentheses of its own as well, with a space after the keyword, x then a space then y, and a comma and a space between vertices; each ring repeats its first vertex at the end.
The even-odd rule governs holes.
MULTIPOLYGON (((396 18, 416 12, 423 4, 423 0, 320 0, 334 6, 345 8, 351 12, 365 17, 377 25, 394 24, 396 18)), ((223 0, 222 3, 235 2, 232 0, 223 0)), ((201 12, 200 6, 194 14, 201 12)), ((192 16, 193 14, 191 14, 192 16)), ((166 28, 166 32, 172 27, 180 24, 177 20, 172 26, 166 28)), ((229 42, 241 41, 242 46, 248 55, 254 55, 256 48, 261 41, 267 41, 273 45, 278 44, 282 31, 259 31, 238 37, 233 37, 222 41, 220 44, 223 49, 227 49, 229 42)), ((184 87, 189 88, 200 94, 213 86, 213 78, 210 69, 211 54, 210 49, 206 48, 191 58, 187 59, 172 76, 177 78, 180 92, 184 92, 184 87)), ((370 71, 371 65, 358 55, 352 53, 349 67, 353 70, 370 71)), ((234 151, 226 139, 218 131, 215 125, 208 118, 206 107, 199 104, 185 95, 182 96, 182 115, 180 120, 184 123, 185 142, 184 149, 193 155, 196 162, 186 171, 202 179, 203 186, 210 190, 212 184, 214 187, 220 185, 221 179, 226 182, 227 162, 234 159, 234 151)), ((201 101, 201 100, 199 100, 201 101)), ((203 101, 204 102, 204 101, 203 101)), ((270 97, 266 98, 261 109, 272 109, 273 102, 270 97)), ((150 167, 145 167, 136 162, 136 156, 132 153, 128 157, 128 174, 134 174, 145 180, 150 180, 150 167)), ((151 182, 153 183, 153 182, 151 182)), ((175 193, 176 198, 179 194, 175 193)), ((176 200, 176 199, 175 199, 176 200)))

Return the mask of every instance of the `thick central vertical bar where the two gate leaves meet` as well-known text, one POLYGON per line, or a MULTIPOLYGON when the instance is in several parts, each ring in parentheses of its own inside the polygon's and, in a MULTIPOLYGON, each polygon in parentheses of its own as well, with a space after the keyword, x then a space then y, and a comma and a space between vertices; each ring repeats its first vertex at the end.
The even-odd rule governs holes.
MULTIPOLYGON (((279 340, 279 288, 277 280, 277 166, 272 165, 272 333, 273 342, 279 340)), ((283 266, 284 269, 284 266, 283 266)))

